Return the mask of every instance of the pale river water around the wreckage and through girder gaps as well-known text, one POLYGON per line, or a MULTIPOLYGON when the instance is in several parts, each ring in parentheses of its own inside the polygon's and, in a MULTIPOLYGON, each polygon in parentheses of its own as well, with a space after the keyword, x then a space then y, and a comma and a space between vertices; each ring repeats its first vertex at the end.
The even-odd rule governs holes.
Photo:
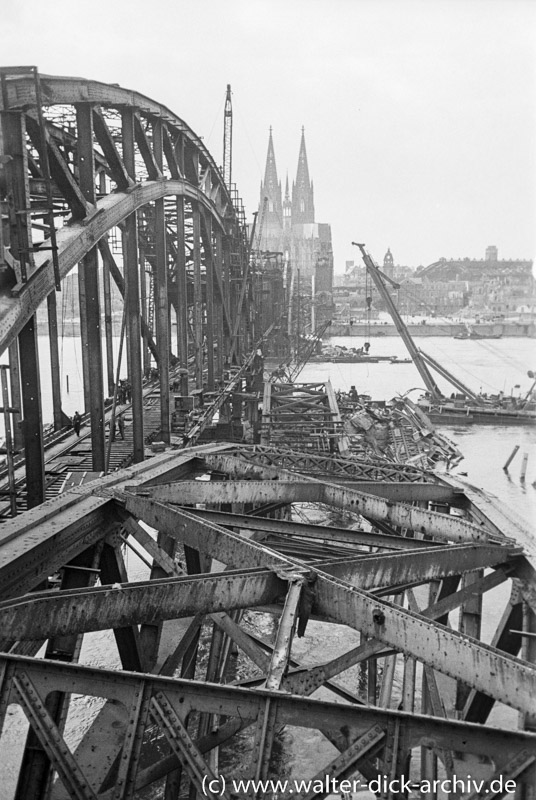
MULTIPOLYGON (((360 347, 363 344, 357 337, 336 337, 329 342, 346 347, 360 347)), ((44 387, 43 419, 49 422, 52 420, 52 402, 46 343, 46 337, 40 337, 41 377, 44 387)), ((508 395, 513 393, 514 396, 523 396, 531 383, 527 377, 527 370, 536 368, 534 340, 530 339, 464 341, 438 337, 423 339, 422 343, 427 353, 476 391, 503 391, 508 395)), ((403 342, 396 337, 373 338, 370 354, 396 355, 399 358, 407 356, 403 342)), ((61 345, 60 358, 63 408, 67 414, 72 415, 74 411, 82 410, 83 407, 79 340, 66 337, 61 345)), ((397 394, 423 388, 422 380, 412 363, 398 365, 314 363, 306 365, 298 377, 298 380, 303 382, 328 379, 335 390, 347 391, 350 386, 355 385, 360 394, 369 394, 378 400, 390 399, 397 394)), ((447 395, 450 394, 452 389, 441 378, 438 378, 438 383, 447 395)), ((416 399, 417 391, 410 396, 416 399)), ((464 460, 453 470, 453 474, 496 495, 501 503, 514 509, 529 528, 533 528, 536 522, 536 489, 533 486, 533 482, 536 482, 536 426, 460 426, 443 427, 441 431, 455 441, 464 455, 464 460), (516 445, 519 445, 520 449, 507 475, 502 467, 516 445), (528 453, 529 458, 526 480, 523 483, 519 475, 524 452, 528 453)), ((126 559, 131 580, 147 577, 147 568, 139 559, 129 552, 126 559)), ((501 586, 484 598, 483 638, 487 641, 495 630, 507 597, 507 590, 501 586)), ((455 624, 454 616, 452 622, 455 624)), ((251 623, 257 625, 260 632, 265 634, 269 634, 273 627, 269 618, 263 620, 258 618, 258 615, 257 619, 252 618, 251 623)), ((328 660, 349 649, 354 639, 357 643, 357 634, 348 629, 323 623, 310 623, 307 636, 296 640, 293 655, 304 663, 318 660, 319 653, 322 654, 322 660, 328 660)), ((81 660, 83 663, 103 667, 119 667, 112 636, 105 633, 85 637, 81 660)), ((353 691, 357 691, 359 675, 356 668, 344 676, 343 683, 353 691)), ((326 696, 325 692, 321 696, 326 696)), ((70 714, 72 744, 79 740, 88 724, 85 702, 78 705, 75 703, 73 713, 70 714)), ((515 725, 516 717, 517 714, 511 709, 498 705, 490 718, 490 724, 515 725)), ((16 726, 13 726, 11 730, 14 731, 15 728, 16 726)), ((18 745, 22 741, 20 734, 16 739, 17 741, 9 735, 3 737, 7 758, 0 764, 0 779, 7 792, 6 797, 12 795, 14 788, 18 760, 15 751, 19 750, 18 745)), ((278 738, 276 757, 277 753, 282 753, 282 745, 285 750, 285 755, 280 758, 282 777, 290 775, 297 778, 309 777, 316 772, 319 764, 326 763, 335 755, 335 750, 321 735, 304 729, 287 729, 282 737, 278 738)), ((236 745, 234 755, 227 756, 231 763, 235 760, 237 770, 239 762, 247 757, 250 747, 251 739, 245 736, 242 742, 236 745)), ((149 795, 158 796, 152 792, 148 793, 149 795)))

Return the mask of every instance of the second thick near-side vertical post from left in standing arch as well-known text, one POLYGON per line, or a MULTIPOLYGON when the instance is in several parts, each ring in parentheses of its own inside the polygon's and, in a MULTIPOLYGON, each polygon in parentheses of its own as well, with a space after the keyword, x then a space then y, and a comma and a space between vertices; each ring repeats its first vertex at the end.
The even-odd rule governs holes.
MULTIPOLYGON (((78 173, 80 188, 86 200, 93 205, 97 199, 95 186, 95 160, 93 151, 93 116, 89 103, 76 105, 78 133, 78 173)), ((99 302, 99 256, 97 246, 83 258, 79 269, 83 274, 86 330, 82 345, 87 348, 83 364, 87 370, 84 383, 89 383, 89 414, 91 422, 92 466, 95 472, 105 469, 104 446, 104 382, 102 375, 102 343, 99 302), (85 340, 85 341, 84 341, 85 340)), ((80 309, 82 312, 82 308, 80 309)), ((82 316, 81 316, 82 321, 82 316)), ((82 326, 81 326, 82 332, 82 326)))

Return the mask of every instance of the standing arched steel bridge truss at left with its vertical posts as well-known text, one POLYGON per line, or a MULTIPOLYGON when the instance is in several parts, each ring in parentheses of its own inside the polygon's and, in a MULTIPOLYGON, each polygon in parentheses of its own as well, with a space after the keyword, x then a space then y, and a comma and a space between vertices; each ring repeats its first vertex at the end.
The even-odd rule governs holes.
POLYGON ((125 297, 135 461, 143 458, 149 349, 159 369, 162 438, 169 441, 170 309, 177 314, 177 362, 188 368, 190 345, 198 388, 204 381, 209 390, 219 385, 224 363, 247 352, 256 332, 244 211, 200 137, 165 106, 119 86, 39 76, 34 68, 2 68, 0 74, 7 219, 0 240, 0 353, 9 349, 12 406, 22 406, 26 462, 36 465, 27 480, 33 505, 44 499, 35 314, 46 302, 58 429, 54 289, 75 265, 94 470, 105 468, 102 328, 109 392, 114 385, 110 274, 125 297), (109 246, 112 231, 119 231, 122 264, 109 246), (17 345, 24 351, 22 395, 17 345))

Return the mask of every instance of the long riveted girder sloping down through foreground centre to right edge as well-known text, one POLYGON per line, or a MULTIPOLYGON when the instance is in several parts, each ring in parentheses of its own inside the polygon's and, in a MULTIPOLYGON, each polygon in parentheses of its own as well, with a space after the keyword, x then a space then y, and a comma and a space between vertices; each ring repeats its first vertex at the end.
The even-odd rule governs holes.
MULTIPOLYGON (((192 514, 154 500, 127 495, 126 508, 158 530, 231 566, 303 566, 302 562, 283 558, 251 540, 202 523, 192 514)), ((536 668, 368 592, 328 578, 320 570, 315 606, 326 617, 357 628, 506 705, 526 710, 535 702, 536 668)))

